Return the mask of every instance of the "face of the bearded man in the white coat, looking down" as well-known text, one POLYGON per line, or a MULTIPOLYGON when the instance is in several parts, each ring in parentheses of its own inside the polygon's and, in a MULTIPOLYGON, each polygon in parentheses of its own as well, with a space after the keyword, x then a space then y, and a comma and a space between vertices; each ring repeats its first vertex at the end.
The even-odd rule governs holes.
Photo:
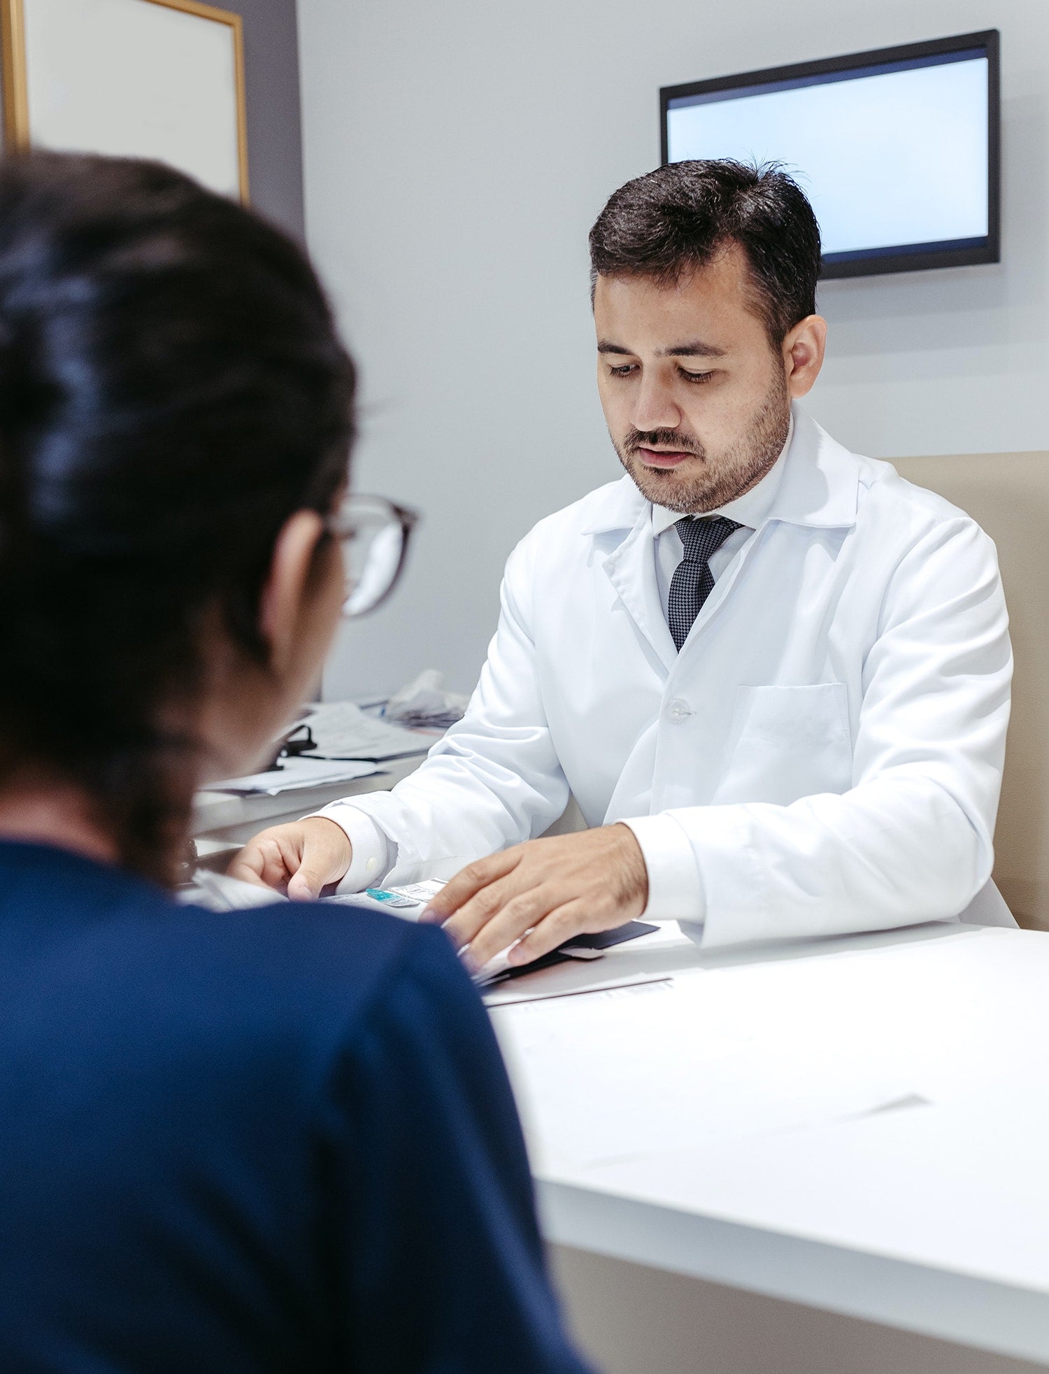
POLYGON ((820 371, 824 322, 809 316, 776 349, 737 245, 669 286, 599 276, 593 316, 604 418, 641 493, 691 514, 757 485, 820 371))

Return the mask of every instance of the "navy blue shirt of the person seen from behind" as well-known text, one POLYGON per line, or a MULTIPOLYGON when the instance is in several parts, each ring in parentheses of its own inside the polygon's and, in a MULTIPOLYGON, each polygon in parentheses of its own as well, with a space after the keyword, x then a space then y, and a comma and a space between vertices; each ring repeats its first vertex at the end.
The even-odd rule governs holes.
POLYGON ((579 1374, 442 932, 0 844, 0 1370, 579 1374))

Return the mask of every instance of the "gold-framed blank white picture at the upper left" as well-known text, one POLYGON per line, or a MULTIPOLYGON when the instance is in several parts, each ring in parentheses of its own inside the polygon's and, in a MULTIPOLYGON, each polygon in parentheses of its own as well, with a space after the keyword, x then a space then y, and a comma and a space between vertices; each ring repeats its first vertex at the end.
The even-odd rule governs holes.
POLYGON ((200 0, 0 0, 4 147, 151 157, 249 203, 239 14, 200 0))

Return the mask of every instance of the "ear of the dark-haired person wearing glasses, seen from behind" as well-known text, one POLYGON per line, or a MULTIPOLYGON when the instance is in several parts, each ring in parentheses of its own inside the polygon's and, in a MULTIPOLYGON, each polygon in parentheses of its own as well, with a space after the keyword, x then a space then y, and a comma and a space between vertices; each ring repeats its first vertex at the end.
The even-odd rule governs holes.
POLYGON ((258 618, 260 633, 269 646, 269 666, 277 675, 288 672, 303 647, 303 639, 313 638, 310 629, 320 610, 319 602, 323 605, 331 599, 327 585, 321 589, 330 580, 327 573, 336 573, 339 578, 336 595, 341 603, 342 563, 338 548, 330 545, 324 521, 312 510, 295 511, 277 534, 258 618), (325 558, 327 554, 331 559, 325 558))

